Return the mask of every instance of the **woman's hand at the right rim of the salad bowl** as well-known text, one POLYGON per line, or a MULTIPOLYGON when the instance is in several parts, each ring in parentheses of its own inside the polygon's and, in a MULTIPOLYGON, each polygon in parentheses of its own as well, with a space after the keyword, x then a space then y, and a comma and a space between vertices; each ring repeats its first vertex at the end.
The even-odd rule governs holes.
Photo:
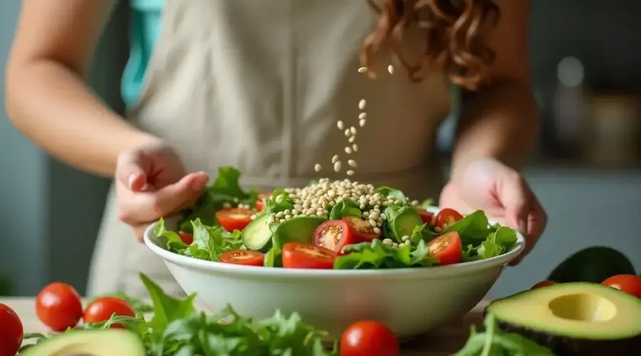
POLYGON ((526 248, 510 263, 512 266, 533 248, 548 221, 523 176, 495 159, 470 164, 459 179, 444 187, 439 206, 466 214, 480 209, 490 219, 521 231, 526 248))

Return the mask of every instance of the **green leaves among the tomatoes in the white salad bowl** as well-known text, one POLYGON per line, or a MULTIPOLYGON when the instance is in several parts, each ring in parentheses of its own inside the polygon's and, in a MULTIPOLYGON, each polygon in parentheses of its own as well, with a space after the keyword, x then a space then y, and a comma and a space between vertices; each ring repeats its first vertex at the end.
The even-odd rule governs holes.
MULTIPOLYGON (((216 213, 225 206, 239 206, 239 204, 254 206, 255 190, 244 191, 239 184, 240 172, 232 167, 221 167, 219 175, 212 184, 209 184, 203 196, 191 209, 184 211, 183 220, 179 223, 179 231, 192 233, 194 241, 185 244, 179 234, 165 227, 165 221, 160 220, 156 226, 155 234, 160 243, 168 251, 184 256, 199 258, 208 261, 220 261, 221 254, 226 251, 251 249, 244 245, 244 231, 229 232, 220 226, 216 213)), ((274 219, 276 216, 291 214, 291 211, 300 206, 301 198, 291 194, 291 189, 276 189, 269 199, 264 200, 263 211, 256 212, 256 219, 262 217, 269 229, 261 230, 265 244, 260 244, 259 251, 265 253, 264 266, 281 267, 281 250, 288 242, 312 243, 312 231, 307 231, 309 236, 300 234, 278 234, 279 226, 283 219, 274 219), (298 200, 296 200, 298 199, 298 200)), ((434 201, 428 199, 422 204, 410 203, 405 194, 392 187, 378 187, 372 194, 377 193, 387 199, 387 205, 381 206, 380 214, 385 214, 382 221, 380 239, 391 239, 396 246, 382 244, 378 239, 373 242, 360 242, 345 246, 345 256, 338 256, 335 260, 335 269, 365 269, 365 268, 412 268, 426 267, 438 264, 429 253, 429 242, 448 232, 456 231, 462 241, 462 262, 478 261, 485 258, 500 256, 516 243, 516 231, 504 226, 491 225, 483 211, 475 211, 464 216, 461 220, 447 226, 447 229, 437 233, 428 224, 423 224, 419 209, 429 209, 434 201), (401 244, 407 241, 408 244, 401 244)), ((323 216, 293 216, 287 222, 303 221, 303 219, 316 219, 318 224, 325 220, 340 220, 353 216, 368 222, 368 211, 363 209, 363 201, 356 201, 344 197, 335 204, 327 206, 323 216)), ((255 219, 255 220, 256 220, 255 219)), ((313 225, 316 228, 318 224, 313 225)), ((247 230, 247 229, 246 229, 247 230)), ((245 231, 246 231, 245 230, 245 231)), ((261 240, 262 241, 262 240, 261 240)), ((389 241, 388 241, 389 242, 389 241)))

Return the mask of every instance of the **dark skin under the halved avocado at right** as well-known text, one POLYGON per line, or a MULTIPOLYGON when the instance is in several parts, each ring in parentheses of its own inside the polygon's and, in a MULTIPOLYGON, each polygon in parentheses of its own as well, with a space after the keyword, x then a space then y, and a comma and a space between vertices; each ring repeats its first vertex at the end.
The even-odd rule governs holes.
MULTIPOLYGON (((484 313, 486 315, 487 312, 484 313)), ((585 340, 561 337, 540 331, 521 328, 496 319, 504 333, 516 333, 538 345, 548 347, 557 356, 633 356, 640 355, 641 335, 620 340, 585 340)), ((534 355, 533 355, 534 356, 534 355)))

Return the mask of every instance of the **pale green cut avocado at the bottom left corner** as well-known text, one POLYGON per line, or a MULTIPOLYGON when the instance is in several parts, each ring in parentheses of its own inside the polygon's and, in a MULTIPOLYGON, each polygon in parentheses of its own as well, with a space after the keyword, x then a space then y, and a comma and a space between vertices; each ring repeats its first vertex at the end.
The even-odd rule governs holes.
POLYGON ((123 329, 74 330, 38 342, 20 356, 145 356, 145 346, 135 333, 123 329))

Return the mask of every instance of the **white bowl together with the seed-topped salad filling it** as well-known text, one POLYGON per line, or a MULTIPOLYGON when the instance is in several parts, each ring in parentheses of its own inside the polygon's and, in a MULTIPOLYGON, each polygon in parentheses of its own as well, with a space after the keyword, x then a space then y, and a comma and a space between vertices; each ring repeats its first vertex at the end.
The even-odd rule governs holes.
POLYGON ((378 320, 400 337, 464 315, 525 246, 523 236, 398 189, 348 179, 260 194, 231 167, 145 243, 212 310, 300 313, 329 337, 378 320))

